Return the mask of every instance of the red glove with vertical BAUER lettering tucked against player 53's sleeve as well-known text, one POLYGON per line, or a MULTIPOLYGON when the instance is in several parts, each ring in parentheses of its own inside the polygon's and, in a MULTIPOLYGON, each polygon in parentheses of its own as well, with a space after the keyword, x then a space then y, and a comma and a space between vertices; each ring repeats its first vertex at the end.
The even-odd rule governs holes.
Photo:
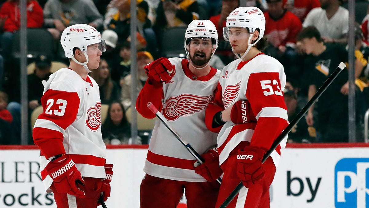
POLYGON ((245 124, 257 121, 248 100, 239 100, 233 105, 231 110, 231 121, 234 124, 245 124))

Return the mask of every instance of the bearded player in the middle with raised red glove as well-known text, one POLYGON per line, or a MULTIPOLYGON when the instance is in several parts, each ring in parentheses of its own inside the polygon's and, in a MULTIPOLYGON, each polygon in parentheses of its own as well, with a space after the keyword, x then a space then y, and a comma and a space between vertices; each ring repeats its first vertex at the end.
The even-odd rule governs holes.
POLYGON ((193 155, 163 123, 156 123, 145 161, 140 208, 176 207, 184 189, 187 207, 215 207, 220 187, 215 180, 222 171, 217 152, 211 150, 217 134, 207 129, 204 119, 220 74, 209 65, 217 47, 214 24, 193 20, 184 40, 187 59, 159 58, 146 66, 148 80, 138 95, 137 111, 154 118, 146 107, 153 103, 206 162, 195 168, 193 155))

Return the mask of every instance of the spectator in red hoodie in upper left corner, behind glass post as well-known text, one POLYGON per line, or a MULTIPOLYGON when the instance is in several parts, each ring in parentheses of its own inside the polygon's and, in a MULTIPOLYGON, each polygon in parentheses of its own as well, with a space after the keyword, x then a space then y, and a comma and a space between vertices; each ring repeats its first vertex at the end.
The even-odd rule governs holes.
MULTIPOLYGON (((1 34, 2 56, 9 57, 13 33, 20 27, 19 0, 7 0, 0 9, 0 27, 4 31, 1 34)), ((39 28, 44 23, 44 13, 41 6, 35 0, 27 0, 27 27, 39 28)))

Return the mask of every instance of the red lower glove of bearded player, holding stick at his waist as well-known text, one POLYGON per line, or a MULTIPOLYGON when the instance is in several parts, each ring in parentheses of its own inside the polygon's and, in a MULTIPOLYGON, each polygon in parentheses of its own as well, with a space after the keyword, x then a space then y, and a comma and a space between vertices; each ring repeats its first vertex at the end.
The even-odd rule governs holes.
MULTIPOLYGON (((223 170, 219 167, 219 155, 217 148, 213 148, 201 155, 205 162, 195 168, 195 172, 207 181, 215 181, 223 173, 223 170)), ((195 162, 196 164, 196 162, 195 162)), ((195 165, 194 164, 194 165, 195 165)))

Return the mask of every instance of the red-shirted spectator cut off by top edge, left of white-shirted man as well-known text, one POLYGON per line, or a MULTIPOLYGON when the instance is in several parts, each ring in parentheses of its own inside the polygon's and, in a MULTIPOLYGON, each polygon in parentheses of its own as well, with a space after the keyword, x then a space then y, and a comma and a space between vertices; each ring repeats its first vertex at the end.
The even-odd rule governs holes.
POLYGON ((301 23, 304 22, 307 13, 310 10, 320 7, 319 0, 283 0, 284 8, 288 11, 291 11, 301 20, 301 23))

